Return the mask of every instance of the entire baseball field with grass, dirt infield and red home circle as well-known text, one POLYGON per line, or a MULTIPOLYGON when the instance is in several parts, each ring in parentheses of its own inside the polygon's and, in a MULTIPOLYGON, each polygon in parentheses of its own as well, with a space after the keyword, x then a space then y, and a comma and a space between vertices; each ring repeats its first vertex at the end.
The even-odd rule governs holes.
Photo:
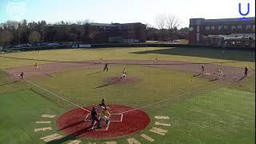
POLYGON ((0 143, 255 142, 254 51, 40 50, 0 70, 0 143), (102 98, 110 122, 90 126, 102 98))

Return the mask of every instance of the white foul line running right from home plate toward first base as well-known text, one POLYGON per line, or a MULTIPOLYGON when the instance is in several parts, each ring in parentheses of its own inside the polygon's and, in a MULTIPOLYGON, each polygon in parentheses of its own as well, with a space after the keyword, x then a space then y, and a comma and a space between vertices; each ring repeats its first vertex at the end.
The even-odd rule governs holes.
MULTIPOLYGON (((207 89, 207 90, 203 90, 203 91, 199 91, 199 94, 203 94, 203 93, 206 93, 207 91, 210 91, 210 90, 215 90, 215 89, 218 89, 219 87, 221 87, 221 86, 226 86, 227 84, 229 84, 230 82, 227 82, 226 84, 223 84, 223 85, 220 85, 220 86, 218 86, 218 84, 216 84, 216 85, 214 85, 214 88, 211 88, 211 89, 207 89), (217 87, 215 87, 215 86, 217 86, 217 87)), ((193 94, 193 93, 195 93, 195 92, 197 92, 198 90, 194 90, 194 91, 192 91, 192 92, 186 92, 186 93, 184 93, 184 94, 179 94, 179 95, 175 95, 176 97, 178 96, 178 97, 181 97, 181 96, 183 96, 183 95, 186 95, 186 94, 193 94)), ((169 101, 171 98, 165 98, 165 99, 162 99, 162 100, 159 100, 159 102, 155 102, 155 103, 152 103, 152 104, 150 104, 150 105, 146 105, 146 106, 141 106, 141 107, 138 107, 138 108, 134 108, 134 109, 132 109, 132 110, 127 110, 127 111, 124 111, 124 112, 122 112, 122 113, 119 113, 119 114, 126 114, 126 113, 129 113, 129 112, 131 112, 131 111, 134 111, 134 110, 141 110, 142 108, 145 108, 145 107, 149 107, 149 106, 154 106, 154 105, 157 105, 157 104, 160 104, 160 103, 162 103, 162 101, 164 101, 164 102, 166 102, 166 101, 169 101)))

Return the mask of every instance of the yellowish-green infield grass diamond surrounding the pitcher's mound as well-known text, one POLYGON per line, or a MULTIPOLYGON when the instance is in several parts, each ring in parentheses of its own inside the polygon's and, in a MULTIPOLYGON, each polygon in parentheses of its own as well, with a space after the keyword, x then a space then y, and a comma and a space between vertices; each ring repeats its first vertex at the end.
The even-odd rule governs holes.
POLYGON ((126 66, 127 75, 139 78, 138 82, 105 86, 106 78, 121 77, 122 68, 123 66, 111 65, 110 70, 104 73, 102 68, 68 71, 53 74, 53 77, 49 78, 34 78, 32 82, 81 106, 92 105, 106 98, 109 104, 118 103, 135 107, 158 102, 164 98, 178 101, 181 94, 206 90, 218 85, 217 82, 209 82, 205 78, 191 78, 192 74, 180 73, 177 70, 126 66), (92 74, 95 71, 101 73, 92 74), (99 86, 102 87, 97 88, 99 86))

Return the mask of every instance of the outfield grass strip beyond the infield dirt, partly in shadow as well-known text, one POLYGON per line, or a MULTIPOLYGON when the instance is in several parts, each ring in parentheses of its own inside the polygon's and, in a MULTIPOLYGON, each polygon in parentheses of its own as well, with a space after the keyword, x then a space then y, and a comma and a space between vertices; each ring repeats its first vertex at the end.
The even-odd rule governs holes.
MULTIPOLYGON (((12 54, 1 54, 15 58, 34 58, 56 61, 88 61, 103 59, 137 59, 137 60, 174 60, 183 62, 224 62, 225 66, 247 66, 255 69, 255 54, 252 51, 226 50, 221 54, 221 50, 214 49, 192 49, 192 48, 108 48, 108 49, 76 49, 76 50, 43 50, 28 51, 12 54), (252 61, 252 62, 251 62, 252 61), (225 63, 227 62, 227 63, 225 63)), ((10 68, 17 66, 34 65, 33 61, 17 60, 0 57, 0 68, 10 68)), ((42 63, 42 62, 39 62, 42 63)), ((45 63, 45 62, 44 62, 45 63)))

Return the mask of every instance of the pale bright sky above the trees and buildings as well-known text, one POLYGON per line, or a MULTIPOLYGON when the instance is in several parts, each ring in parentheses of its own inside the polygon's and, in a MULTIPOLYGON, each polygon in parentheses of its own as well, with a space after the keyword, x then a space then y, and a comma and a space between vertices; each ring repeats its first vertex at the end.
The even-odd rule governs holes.
POLYGON ((155 26, 158 14, 179 18, 181 27, 190 18, 240 18, 238 3, 255 15, 255 0, 0 0, 0 23, 7 20, 77 22, 90 19, 99 23, 142 22, 155 26))

